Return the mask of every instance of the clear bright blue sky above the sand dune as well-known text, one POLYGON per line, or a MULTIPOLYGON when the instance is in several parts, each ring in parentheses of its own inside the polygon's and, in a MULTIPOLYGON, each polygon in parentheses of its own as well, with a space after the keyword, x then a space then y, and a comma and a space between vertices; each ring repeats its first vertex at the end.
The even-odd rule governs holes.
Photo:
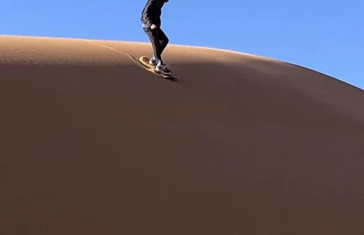
MULTIPOLYGON (((3 1, 0 34, 146 42, 145 1, 3 1)), ((363 9, 363 0, 170 0, 162 29, 173 44, 272 57, 364 89, 363 9)))

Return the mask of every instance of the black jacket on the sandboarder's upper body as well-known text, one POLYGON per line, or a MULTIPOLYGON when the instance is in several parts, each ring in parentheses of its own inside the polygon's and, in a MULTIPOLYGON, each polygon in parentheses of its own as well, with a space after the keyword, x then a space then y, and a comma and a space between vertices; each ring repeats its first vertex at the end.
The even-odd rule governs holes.
POLYGON ((146 6, 144 6, 141 12, 141 22, 145 24, 147 28, 155 24, 156 27, 160 28, 162 15, 162 7, 165 4, 164 0, 148 0, 146 6))

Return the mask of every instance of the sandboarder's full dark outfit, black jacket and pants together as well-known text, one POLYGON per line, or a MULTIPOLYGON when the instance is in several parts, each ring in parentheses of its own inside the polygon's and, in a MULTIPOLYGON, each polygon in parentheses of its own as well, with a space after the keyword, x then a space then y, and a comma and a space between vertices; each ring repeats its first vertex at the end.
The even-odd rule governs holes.
POLYGON ((164 4, 165 0, 148 0, 141 12, 142 27, 153 45, 154 57, 160 59, 161 62, 162 52, 169 42, 165 33, 160 29, 162 24, 160 15, 162 15, 164 4), (151 29, 152 24, 156 26, 155 29, 151 29))

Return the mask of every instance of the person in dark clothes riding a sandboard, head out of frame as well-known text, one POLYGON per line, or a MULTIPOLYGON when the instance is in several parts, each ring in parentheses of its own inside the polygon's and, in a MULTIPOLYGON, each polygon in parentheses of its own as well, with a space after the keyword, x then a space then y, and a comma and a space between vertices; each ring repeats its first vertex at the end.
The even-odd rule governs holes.
POLYGON ((160 28, 162 15, 162 7, 169 0, 147 0, 141 12, 141 23, 149 40, 153 46, 153 57, 149 60, 149 64, 158 73, 172 73, 171 69, 163 62, 162 52, 165 50, 169 39, 165 32, 160 28))

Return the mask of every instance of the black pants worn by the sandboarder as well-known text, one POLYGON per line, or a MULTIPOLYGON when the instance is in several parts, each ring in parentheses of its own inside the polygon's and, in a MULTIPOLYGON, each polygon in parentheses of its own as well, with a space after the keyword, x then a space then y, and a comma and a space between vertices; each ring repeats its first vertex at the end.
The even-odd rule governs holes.
POLYGON ((169 39, 165 35, 165 32, 162 31, 160 28, 156 29, 149 29, 149 28, 143 28, 146 32, 146 35, 148 35, 149 40, 152 43, 153 46, 153 52, 154 57, 160 59, 162 61, 162 52, 165 50, 169 39))

